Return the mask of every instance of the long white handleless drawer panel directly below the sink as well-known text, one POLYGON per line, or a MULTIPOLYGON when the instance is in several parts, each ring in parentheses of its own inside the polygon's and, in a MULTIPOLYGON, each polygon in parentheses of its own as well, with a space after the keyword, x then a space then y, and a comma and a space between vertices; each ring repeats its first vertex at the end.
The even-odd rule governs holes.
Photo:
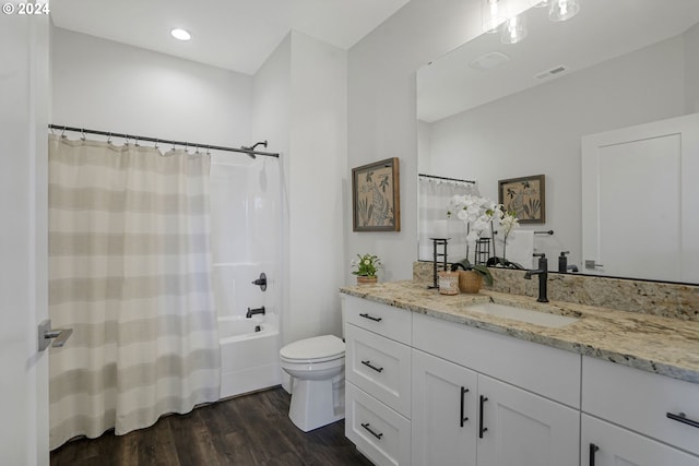
POLYGON ((413 346, 580 408, 580 355, 453 322, 413 315, 413 346))

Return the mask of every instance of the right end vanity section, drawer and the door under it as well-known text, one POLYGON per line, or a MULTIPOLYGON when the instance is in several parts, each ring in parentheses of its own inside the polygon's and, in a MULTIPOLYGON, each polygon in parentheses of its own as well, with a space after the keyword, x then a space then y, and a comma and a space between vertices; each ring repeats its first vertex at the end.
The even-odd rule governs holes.
POLYGON ((699 466, 699 384, 590 357, 582 370, 581 465, 699 466))

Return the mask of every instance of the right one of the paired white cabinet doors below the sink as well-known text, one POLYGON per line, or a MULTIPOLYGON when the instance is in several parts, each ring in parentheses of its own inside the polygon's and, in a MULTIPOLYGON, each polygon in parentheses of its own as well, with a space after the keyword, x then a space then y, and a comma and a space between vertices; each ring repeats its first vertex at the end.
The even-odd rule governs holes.
POLYGON ((478 466, 579 465, 579 411, 485 375, 478 404, 478 466))

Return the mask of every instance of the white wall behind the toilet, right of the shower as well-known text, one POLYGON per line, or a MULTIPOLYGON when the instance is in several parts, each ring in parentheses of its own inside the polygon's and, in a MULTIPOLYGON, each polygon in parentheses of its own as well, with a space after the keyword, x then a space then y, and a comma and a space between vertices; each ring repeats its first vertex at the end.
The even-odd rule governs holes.
POLYGON ((337 288, 345 262, 346 52, 292 32, 254 79, 253 133, 287 134, 284 343, 341 334, 337 288))

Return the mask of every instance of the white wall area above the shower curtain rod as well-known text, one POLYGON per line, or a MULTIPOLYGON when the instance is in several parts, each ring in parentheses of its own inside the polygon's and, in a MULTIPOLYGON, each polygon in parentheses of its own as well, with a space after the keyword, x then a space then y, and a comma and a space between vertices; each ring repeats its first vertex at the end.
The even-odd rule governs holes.
MULTIPOLYGON (((249 145, 252 77, 55 28, 56 124, 249 145)), ((230 155, 238 157, 241 155, 230 155)))

